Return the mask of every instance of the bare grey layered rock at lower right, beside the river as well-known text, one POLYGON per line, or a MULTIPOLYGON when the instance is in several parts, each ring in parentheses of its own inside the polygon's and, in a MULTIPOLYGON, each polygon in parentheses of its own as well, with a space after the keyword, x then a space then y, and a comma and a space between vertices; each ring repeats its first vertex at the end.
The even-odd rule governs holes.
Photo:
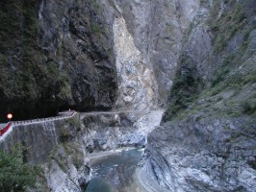
POLYGON ((157 180, 152 188, 160 191, 253 191, 254 125, 243 118, 166 123, 148 137, 138 175, 157 180))

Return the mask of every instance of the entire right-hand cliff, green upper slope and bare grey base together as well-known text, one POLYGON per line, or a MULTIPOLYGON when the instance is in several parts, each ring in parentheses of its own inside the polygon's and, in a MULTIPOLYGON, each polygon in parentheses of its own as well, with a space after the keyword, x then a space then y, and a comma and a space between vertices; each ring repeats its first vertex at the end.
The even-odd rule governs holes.
POLYGON ((255 3, 201 1, 138 172, 149 191, 255 190, 255 3))

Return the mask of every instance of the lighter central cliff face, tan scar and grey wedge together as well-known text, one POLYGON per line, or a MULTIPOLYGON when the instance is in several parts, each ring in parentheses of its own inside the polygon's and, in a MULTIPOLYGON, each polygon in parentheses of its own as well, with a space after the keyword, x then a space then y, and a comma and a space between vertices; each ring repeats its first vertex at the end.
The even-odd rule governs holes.
POLYGON ((199 1, 113 1, 112 6, 116 107, 165 106, 182 39, 199 1))

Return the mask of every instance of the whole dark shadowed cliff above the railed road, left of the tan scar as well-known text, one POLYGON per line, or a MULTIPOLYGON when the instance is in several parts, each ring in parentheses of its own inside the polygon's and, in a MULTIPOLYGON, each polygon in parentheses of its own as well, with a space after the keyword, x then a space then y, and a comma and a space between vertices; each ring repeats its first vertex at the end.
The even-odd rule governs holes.
POLYGON ((1 1, 0 9, 1 112, 18 119, 113 107, 112 27, 97 3, 1 1))

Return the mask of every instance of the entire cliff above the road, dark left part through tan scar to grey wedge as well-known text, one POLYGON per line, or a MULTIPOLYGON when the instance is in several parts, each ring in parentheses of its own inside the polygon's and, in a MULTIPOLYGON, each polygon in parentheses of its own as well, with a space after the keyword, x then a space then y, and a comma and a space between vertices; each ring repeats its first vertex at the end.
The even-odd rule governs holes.
POLYGON ((165 105, 198 0, 22 0, 0 8, 0 103, 18 120, 60 108, 165 105))

